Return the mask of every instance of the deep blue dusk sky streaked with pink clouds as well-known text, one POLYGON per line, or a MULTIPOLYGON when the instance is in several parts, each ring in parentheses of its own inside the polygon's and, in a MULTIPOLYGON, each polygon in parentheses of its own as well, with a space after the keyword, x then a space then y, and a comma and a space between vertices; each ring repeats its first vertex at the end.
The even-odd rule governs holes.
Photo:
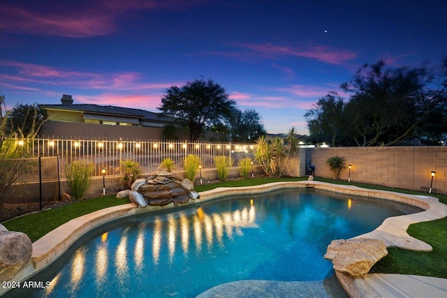
POLYGON ((152 112, 172 85, 214 80, 268 133, 295 126, 359 66, 440 66, 447 1, 0 0, 0 95, 152 112))

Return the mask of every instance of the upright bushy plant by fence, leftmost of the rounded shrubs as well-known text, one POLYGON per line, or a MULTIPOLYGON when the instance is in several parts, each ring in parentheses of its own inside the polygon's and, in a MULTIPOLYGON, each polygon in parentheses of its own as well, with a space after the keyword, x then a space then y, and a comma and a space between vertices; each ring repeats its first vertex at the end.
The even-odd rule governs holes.
POLYGON ((93 174, 93 163, 85 161, 72 161, 65 167, 65 175, 70 187, 71 195, 75 200, 80 200, 89 188, 91 175, 93 174))

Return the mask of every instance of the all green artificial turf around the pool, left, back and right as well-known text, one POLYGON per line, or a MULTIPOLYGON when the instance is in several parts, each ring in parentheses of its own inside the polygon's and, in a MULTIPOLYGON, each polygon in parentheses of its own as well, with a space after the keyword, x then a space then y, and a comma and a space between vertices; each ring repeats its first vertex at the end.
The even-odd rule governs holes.
MULTIPOLYGON (((315 177, 317 181, 324 181, 335 184, 350 184, 364 188, 380 189, 384 191, 395 191, 400 193, 412 193, 427 195, 418 191, 408 191, 404 189, 389 188, 386 186, 374 186, 370 184, 358 184, 354 182, 323 179, 315 177)), ((205 184, 195 186, 195 190, 209 191, 217 187, 241 187, 267 184, 278 181, 303 181, 307 177, 299 178, 254 178, 237 181, 226 181, 219 184, 205 184)), ((447 204, 447 195, 434 195, 440 202, 447 204)), ((56 209, 42 211, 37 214, 30 214, 15 218, 3 223, 8 230, 24 232, 31 241, 36 241, 47 232, 54 230, 73 218, 88 214, 90 212, 129 203, 129 199, 117 199, 115 196, 100 197, 91 200, 76 202, 56 209)), ((408 233, 417 239, 427 242, 433 247, 430 252, 408 251, 402 248, 388 248, 388 255, 372 267, 372 273, 395 273, 413 274, 423 276, 435 276, 447 278, 447 217, 436 221, 425 223, 414 223, 409 226, 408 233)))

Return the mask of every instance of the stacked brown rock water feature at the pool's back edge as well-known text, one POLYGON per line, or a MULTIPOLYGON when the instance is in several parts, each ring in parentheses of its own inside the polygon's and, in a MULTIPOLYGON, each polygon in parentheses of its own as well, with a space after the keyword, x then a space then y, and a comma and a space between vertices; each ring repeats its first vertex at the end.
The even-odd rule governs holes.
POLYGON ((189 179, 179 179, 170 172, 156 172, 147 179, 138 179, 133 182, 130 190, 117 193, 117 198, 126 196, 137 207, 166 206, 170 203, 178 206, 186 204, 190 199, 199 198, 189 179))

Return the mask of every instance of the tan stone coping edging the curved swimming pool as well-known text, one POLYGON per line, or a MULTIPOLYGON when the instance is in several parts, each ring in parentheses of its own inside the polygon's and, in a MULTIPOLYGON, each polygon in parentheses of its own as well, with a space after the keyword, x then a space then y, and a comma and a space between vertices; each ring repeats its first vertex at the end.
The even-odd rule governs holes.
MULTIPOLYGON (((186 205, 198 204, 207 200, 221 198, 226 195, 266 193, 280 188, 295 187, 316 188, 349 195, 393 200, 425 209, 425 211, 421 211, 417 214, 386 218, 382 225, 380 225, 379 228, 376 228, 376 230, 358 236, 381 239, 385 241, 386 246, 397 246, 416 251, 431 251, 432 248, 430 245, 410 237, 409 234, 406 233, 406 229, 411 223, 432 221, 434 219, 447 216, 447 205, 440 203, 437 198, 430 196, 379 191, 368 188, 360 188, 358 186, 329 184, 321 181, 284 181, 274 182, 271 184, 262 184, 259 186, 244 186, 237 188, 220 187, 211 191, 200 192, 200 200, 190 200, 186 205)), ((122 218, 124 216, 166 209, 175 210, 175 208, 176 207, 173 206, 137 208, 134 204, 124 204, 74 218, 71 221, 68 221, 68 223, 61 225, 59 228, 45 234, 41 237, 41 239, 38 239, 33 243, 33 252, 30 262, 19 272, 19 274, 15 276, 15 278, 13 278, 13 280, 23 281, 29 278, 32 274, 35 274, 37 271, 41 271, 41 269, 47 267, 47 265, 50 265, 50 263, 56 260, 59 255, 64 253, 68 247, 75 242, 75 240, 99 225, 113 221, 116 218, 122 218)), ((350 281, 346 281, 346 284, 349 283, 350 281)), ((351 284, 352 283, 353 282, 351 281, 351 284)), ((356 283, 358 283, 358 281, 356 281, 356 283)), ((0 292, 0 295, 1 294, 2 293, 0 292)))

